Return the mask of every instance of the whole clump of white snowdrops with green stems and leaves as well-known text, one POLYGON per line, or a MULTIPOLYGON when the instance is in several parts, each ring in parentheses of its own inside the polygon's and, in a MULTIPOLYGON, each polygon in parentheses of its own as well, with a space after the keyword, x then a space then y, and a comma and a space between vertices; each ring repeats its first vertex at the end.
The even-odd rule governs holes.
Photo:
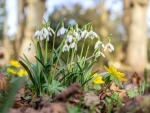
MULTIPOLYGON (((68 28, 64 28, 63 21, 57 25, 55 32, 50 28, 50 23, 45 22, 42 29, 38 29, 33 37, 37 37, 36 41, 36 62, 32 64, 28 58, 24 55, 19 61, 25 68, 30 78, 30 88, 37 96, 43 94, 58 95, 60 91, 64 90, 64 86, 68 87, 74 82, 79 82, 83 89, 88 89, 95 77, 92 76, 98 71, 92 72, 93 66, 96 63, 99 56, 105 57, 100 52, 100 49, 108 49, 110 52, 114 50, 113 45, 110 43, 110 38, 107 37, 103 42, 108 39, 106 47, 103 42, 100 41, 100 37, 93 31, 93 27, 90 23, 84 25, 81 29, 78 28, 78 24, 75 26, 69 25, 68 28), (62 27, 58 30, 60 27, 62 27), (53 37, 52 37, 53 35, 53 37), (55 38, 63 35, 63 40, 58 48, 55 47, 55 38), (48 41, 49 38, 53 39, 51 56, 48 58, 48 41), (94 40, 97 38, 97 42, 93 49, 93 53, 89 55, 89 48, 91 42, 85 47, 85 41, 94 40), (42 52, 40 40, 45 39, 45 51, 42 52), (82 42, 80 42, 83 40, 82 42), (77 45, 82 43, 80 54, 78 54, 77 45), (65 53, 65 57, 63 54, 65 53), (83 54, 85 53, 85 54, 83 54)), ((31 50, 31 44, 28 47, 31 50)), ((29 85, 29 84, 28 84, 29 85)), ((100 87, 95 87, 97 90, 100 87)))

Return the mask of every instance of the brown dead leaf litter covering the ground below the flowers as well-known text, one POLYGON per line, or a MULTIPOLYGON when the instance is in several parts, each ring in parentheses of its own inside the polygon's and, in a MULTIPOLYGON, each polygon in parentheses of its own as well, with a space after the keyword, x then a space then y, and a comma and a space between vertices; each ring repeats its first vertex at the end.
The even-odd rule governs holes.
MULTIPOLYGON (((120 113, 134 110, 134 108, 138 111, 136 113, 145 113, 146 109, 144 109, 143 106, 146 106, 148 112, 150 111, 149 103, 145 102, 145 100, 150 100, 150 97, 144 96, 131 99, 127 95, 127 92, 130 90, 137 91, 141 83, 142 80, 140 76, 135 72, 130 83, 125 85, 125 89, 111 82, 107 90, 102 89, 99 91, 98 95, 96 95, 93 92, 83 92, 81 90, 81 85, 79 83, 74 83, 54 98, 50 98, 48 95, 44 95, 42 98, 36 98, 35 95, 32 100, 24 100, 21 94, 30 93, 27 93, 25 89, 20 89, 16 96, 16 106, 14 106, 17 109, 10 109, 9 113, 67 113, 68 107, 79 104, 84 106, 84 108, 81 108, 83 113, 89 113, 87 111, 89 108, 94 108, 92 113, 106 113, 108 106, 106 98, 109 98, 114 93, 119 95, 122 101, 123 109, 119 111, 120 113), (142 104, 142 107, 139 108, 139 105, 143 102, 144 105, 142 104)), ((113 103, 112 111, 115 112, 116 108, 117 103, 113 103)))

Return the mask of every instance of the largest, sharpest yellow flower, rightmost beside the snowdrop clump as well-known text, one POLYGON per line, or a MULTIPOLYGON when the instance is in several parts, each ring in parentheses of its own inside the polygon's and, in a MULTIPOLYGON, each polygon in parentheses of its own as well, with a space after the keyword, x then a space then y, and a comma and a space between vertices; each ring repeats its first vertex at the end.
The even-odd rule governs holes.
POLYGON ((109 66, 109 68, 107 68, 106 66, 104 66, 104 68, 108 71, 108 73, 111 76, 114 76, 115 78, 122 80, 122 81, 127 81, 126 78, 124 78, 124 73, 120 73, 118 72, 113 66, 109 66))

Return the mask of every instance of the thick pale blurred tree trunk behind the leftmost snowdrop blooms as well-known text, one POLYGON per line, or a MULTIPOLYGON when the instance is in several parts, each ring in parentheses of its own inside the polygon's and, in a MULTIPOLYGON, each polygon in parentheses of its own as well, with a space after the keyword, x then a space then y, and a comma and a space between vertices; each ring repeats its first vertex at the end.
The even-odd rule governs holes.
POLYGON ((26 3, 26 24, 19 55, 22 56, 24 53, 32 62, 34 62, 35 54, 24 51, 24 49, 32 42, 31 38, 35 32, 35 28, 42 27, 43 14, 45 12, 45 0, 26 0, 26 3))

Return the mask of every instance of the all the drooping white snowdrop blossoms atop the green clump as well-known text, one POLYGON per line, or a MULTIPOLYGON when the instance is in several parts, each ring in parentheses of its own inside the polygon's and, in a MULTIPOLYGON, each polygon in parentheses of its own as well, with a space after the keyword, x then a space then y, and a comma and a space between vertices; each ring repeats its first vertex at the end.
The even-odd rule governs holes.
MULTIPOLYGON (((93 31, 92 25, 87 24, 84 25, 83 28, 79 28, 76 24, 75 26, 68 26, 68 28, 65 28, 64 23, 61 22, 61 27, 54 31, 50 24, 45 24, 44 27, 41 30, 37 30, 33 38, 37 37, 38 40, 44 40, 49 41, 49 37, 52 35, 57 34, 57 36, 63 36, 64 37, 64 43, 62 43, 62 52, 70 52, 70 51, 77 51, 78 50, 78 43, 83 40, 83 44, 81 47, 81 54, 84 51, 84 42, 85 40, 91 40, 97 39, 95 46, 94 46, 94 56, 95 58, 98 58, 99 56, 105 57, 104 52, 108 49, 110 52, 114 51, 114 46, 110 43, 110 38, 108 43, 104 45, 104 41, 100 40, 100 36, 93 31), (87 29, 88 28, 88 29, 87 29), (101 48, 103 51, 101 51, 101 48)), ((89 44, 90 45, 90 44, 89 44)), ((30 50, 31 46, 27 48, 27 50, 30 50)), ((88 51, 89 48, 86 48, 86 51, 88 51)), ((81 55, 82 56, 82 55, 81 55)))

